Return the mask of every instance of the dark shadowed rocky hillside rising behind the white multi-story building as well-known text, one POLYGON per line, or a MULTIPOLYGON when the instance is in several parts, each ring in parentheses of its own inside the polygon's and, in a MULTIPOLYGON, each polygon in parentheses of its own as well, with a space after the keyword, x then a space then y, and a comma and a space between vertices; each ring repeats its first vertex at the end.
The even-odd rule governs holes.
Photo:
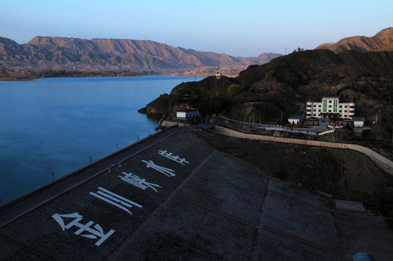
POLYGON ((378 125, 371 125, 374 138, 391 139, 393 52, 296 52, 250 65, 236 78, 209 76, 181 83, 170 94, 171 106, 186 93, 193 99, 191 106, 204 115, 227 109, 228 118, 272 124, 280 124, 281 112, 283 118, 303 114, 309 98, 320 101, 324 94, 337 94, 343 102, 356 102, 357 116, 368 117, 370 123, 378 117, 378 125))

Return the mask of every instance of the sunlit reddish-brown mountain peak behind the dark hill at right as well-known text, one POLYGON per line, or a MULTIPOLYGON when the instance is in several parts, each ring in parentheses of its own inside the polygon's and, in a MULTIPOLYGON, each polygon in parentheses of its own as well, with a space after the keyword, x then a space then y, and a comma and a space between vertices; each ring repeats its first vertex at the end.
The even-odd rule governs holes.
MULTIPOLYGON (((352 36, 346 37, 337 43, 321 44, 315 49, 329 49, 334 53, 340 53, 345 50, 356 50, 359 52, 374 51, 382 45, 389 44, 393 41, 393 27, 383 29, 372 37, 352 36)), ((389 50, 380 50, 389 51, 389 50)), ((391 50, 390 50, 391 51, 391 50)))

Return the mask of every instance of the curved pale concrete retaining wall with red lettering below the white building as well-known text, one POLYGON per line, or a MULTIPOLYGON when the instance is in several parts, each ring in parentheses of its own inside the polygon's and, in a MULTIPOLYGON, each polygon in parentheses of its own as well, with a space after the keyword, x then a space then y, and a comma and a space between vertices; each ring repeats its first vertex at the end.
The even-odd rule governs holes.
POLYGON ((276 142, 312 145, 312 146, 320 146, 320 147, 329 147, 329 148, 353 149, 353 150, 357 150, 359 152, 366 154, 371 159, 373 159, 373 160, 377 161, 378 163, 381 163, 382 165, 387 167, 389 170, 393 170, 393 161, 376 153, 374 150, 371 150, 369 148, 366 148, 366 147, 363 147, 360 145, 347 144, 347 143, 336 143, 336 142, 326 142, 326 141, 315 141, 315 140, 299 140, 299 139, 263 136, 263 135, 255 135, 255 134, 244 134, 242 132, 238 132, 236 130, 230 130, 230 129, 220 127, 220 126, 215 126, 214 130, 217 132, 220 132, 222 134, 228 135, 228 136, 251 139, 251 140, 276 141, 276 142))

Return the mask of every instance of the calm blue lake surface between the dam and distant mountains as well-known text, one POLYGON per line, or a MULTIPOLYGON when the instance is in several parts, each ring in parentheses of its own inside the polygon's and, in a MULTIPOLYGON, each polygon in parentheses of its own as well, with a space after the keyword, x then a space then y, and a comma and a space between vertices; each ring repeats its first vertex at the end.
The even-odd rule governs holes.
MULTIPOLYGON (((203 77, 197 77, 197 81, 203 77)), ((0 199, 6 203, 154 132, 137 112, 194 77, 0 81, 0 199)))

